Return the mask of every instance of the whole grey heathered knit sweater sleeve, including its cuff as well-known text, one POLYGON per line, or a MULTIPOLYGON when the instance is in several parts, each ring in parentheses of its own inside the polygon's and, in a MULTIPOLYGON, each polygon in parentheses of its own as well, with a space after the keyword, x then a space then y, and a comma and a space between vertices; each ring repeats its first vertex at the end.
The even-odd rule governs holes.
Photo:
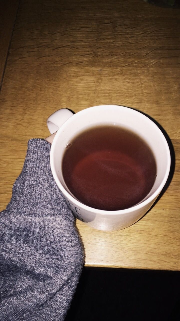
POLYGON ((51 145, 28 142, 0 213, 0 320, 64 320, 83 265, 74 216, 50 168, 51 145))

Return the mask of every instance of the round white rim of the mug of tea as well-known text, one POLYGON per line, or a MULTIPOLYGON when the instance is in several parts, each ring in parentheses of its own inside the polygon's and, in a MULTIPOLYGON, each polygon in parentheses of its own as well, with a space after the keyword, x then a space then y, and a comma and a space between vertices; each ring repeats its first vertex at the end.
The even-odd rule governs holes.
POLYGON ((125 106, 120 106, 120 105, 97 105, 97 106, 92 106, 92 107, 89 107, 89 108, 85 108, 85 109, 82 109, 80 110, 79 112, 75 113, 74 115, 72 115, 72 117, 68 118, 67 121, 65 121, 65 123, 59 128, 57 134, 55 135, 54 139, 53 139, 53 142, 52 142, 52 145, 51 145, 51 152, 50 152, 50 165, 51 165, 51 171, 52 171, 52 175, 54 177, 54 180, 58 186, 58 188, 60 189, 60 191, 62 192, 62 194, 65 195, 65 197, 67 197, 70 201, 72 201, 73 203, 77 204, 77 206, 80 206, 82 207, 84 210, 86 211, 89 211, 89 212, 92 212, 92 213, 96 213, 96 214, 102 214, 102 215, 108 215, 108 214, 111 214, 111 215, 119 215, 119 214, 128 214, 128 213, 131 213, 131 212, 134 212, 136 210, 139 210, 141 208, 143 208, 144 206, 146 206, 147 204, 151 204, 151 202, 153 202, 153 200, 155 200, 158 195, 160 194, 162 188, 164 187, 164 185, 166 184, 166 181, 168 179, 168 175, 169 175, 169 171, 170 171, 170 164, 171 164, 171 157, 170 157, 170 150, 169 150, 169 146, 168 146, 168 142, 164 136, 164 134, 162 133, 162 131, 160 130, 160 128, 149 118, 147 117, 145 114, 141 113, 140 111, 137 111, 136 109, 133 109, 133 108, 130 108, 130 107, 125 107, 125 106), (65 189, 65 187, 62 185, 62 183, 60 182, 59 178, 58 178, 58 175, 56 173, 56 170, 55 170, 55 167, 54 167, 54 161, 53 161, 53 156, 55 154, 55 146, 56 146, 56 143, 59 139, 59 136, 60 136, 60 133, 63 131, 63 129, 68 126, 68 124, 72 121, 72 117, 74 119, 74 117, 78 117, 78 114, 79 113, 87 113, 89 109, 91 108, 99 108, 99 107, 121 107, 121 108, 126 108, 126 109, 129 109, 131 110, 131 112, 133 113, 138 113, 138 115, 141 115, 142 118, 146 118, 146 120, 148 119, 148 121, 153 124, 153 126, 156 127, 156 129, 158 129, 159 131, 159 134, 161 135, 161 138, 162 140, 164 141, 164 144, 165 144, 165 147, 166 147, 166 151, 167 151, 167 168, 166 168, 166 172, 165 172, 165 175, 164 175, 164 178, 162 180, 162 182, 160 183, 160 186, 155 190, 155 192, 149 196, 147 199, 145 199, 144 201, 132 206, 132 207, 129 207, 129 208, 126 208, 126 209, 123 209, 123 210, 116 210, 116 211, 107 211, 107 210, 99 210, 99 209, 96 209, 96 208, 93 208, 93 207, 90 207, 86 204, 83 204, 81 203, 80 201, 78 201, 75 197, 73 197, 71 194, 69 194, 69 192, 65 189))

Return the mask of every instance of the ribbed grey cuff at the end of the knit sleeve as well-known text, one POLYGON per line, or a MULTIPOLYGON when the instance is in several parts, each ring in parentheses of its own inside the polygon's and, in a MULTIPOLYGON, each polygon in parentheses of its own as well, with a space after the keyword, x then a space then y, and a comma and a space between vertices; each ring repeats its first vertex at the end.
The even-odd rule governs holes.
POLYGON ((39 215, 57 213, 67 207, 50 167, 51 145, 43 139, 30 139, 24 166, 12 189, 12 200, 7 210, 39 215))

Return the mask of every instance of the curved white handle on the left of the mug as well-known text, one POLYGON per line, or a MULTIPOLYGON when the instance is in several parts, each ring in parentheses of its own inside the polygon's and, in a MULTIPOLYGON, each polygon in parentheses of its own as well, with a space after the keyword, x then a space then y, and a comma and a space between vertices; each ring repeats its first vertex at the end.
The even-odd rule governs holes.
POLYGON ((47 119, 47 126, 51 134, 57 132, 57 130, 62 126, 62 124, 67 121, 74 114, 67 108, 61 108, 56 110, 50 117, 47 119))

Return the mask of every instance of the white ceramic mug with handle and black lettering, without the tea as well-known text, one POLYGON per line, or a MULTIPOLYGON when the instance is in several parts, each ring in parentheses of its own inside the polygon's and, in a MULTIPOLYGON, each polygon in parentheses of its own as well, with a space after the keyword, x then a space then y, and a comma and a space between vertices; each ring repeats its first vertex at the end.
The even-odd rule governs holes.
POLYGON ((76 114, 66 108, 59 109, 48 118, 47 125, 51 134, 58 131, 51 146, 51 171, 77 219, 97 230, 121 230, 137 222, 153 205, 169 175, 170 151, 166 138, 150 118, 128 107, 101 105, 76 114), (157 177, 148 195, 140 203, 119 211, 98 210, 82 204, 71 194, 62 174, 62 158, 70 140, 88 127, 107 123, 116 123, 142 137, 153 151, 157 166, 157 177))

